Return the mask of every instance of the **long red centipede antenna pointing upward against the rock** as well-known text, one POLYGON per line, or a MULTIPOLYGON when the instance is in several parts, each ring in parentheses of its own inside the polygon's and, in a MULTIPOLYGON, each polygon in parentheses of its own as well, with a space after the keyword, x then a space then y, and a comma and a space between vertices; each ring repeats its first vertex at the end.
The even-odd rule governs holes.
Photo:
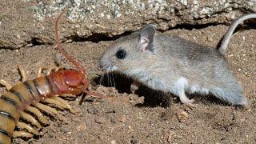
POLYGON ((59 20, 62 17, 62 15, 65 13, 66 10, 63 10, 61 14, 59 14, 58 18, 56 18, 55 21, 55 38, 56 38, 56 44, 57 44, 57 49, 58 51, 64 55, 64 57, 70 61, 74 66, 77 67, 78 71, 80 71, 82 74, 86 74, 85 68, 78 62, 76 61, 73 57, 70 56, 70 54, 67 54, 66 51, 64 50, 62 43, 60 41, 60 34, 58 30, 58 24, 59 20))

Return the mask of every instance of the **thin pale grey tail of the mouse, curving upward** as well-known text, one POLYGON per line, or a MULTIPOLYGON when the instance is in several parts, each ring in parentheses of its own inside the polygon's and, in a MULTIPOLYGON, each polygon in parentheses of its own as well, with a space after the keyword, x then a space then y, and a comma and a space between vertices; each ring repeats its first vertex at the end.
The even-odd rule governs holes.
POLYGON ((226 34, 224 35, 222 39, 221 46, 219 46, 218 51, 222 54, 226 54, 227 45, 230 42, 230 38, 232 37, 232 34, 234 33, 234 30, 237 28, 239 23, 246 21, 247 19, 256 18, 256 13, 253 14, 244 14, 237 19, 234 20, 234 22, 231 23, 229 26, 229 29, 226 31, 226 34))

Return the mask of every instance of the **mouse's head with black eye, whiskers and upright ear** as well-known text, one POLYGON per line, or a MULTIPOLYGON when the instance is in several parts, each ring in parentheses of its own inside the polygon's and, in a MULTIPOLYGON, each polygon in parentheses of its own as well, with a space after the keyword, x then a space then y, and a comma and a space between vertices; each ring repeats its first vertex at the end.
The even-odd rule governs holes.
POLYGON ((155 55, 154 34, 155 26, 147 25, 139 32, 119 38, 102 55, 102 69, 131 75, 132 71, 138 73, 151 66, 155 55))

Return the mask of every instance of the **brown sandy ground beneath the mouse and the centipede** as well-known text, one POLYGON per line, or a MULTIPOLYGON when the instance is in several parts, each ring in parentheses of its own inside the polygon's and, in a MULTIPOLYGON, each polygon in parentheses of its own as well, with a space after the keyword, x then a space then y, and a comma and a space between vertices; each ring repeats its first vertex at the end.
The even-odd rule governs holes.
MULTIPOLYGON (((192 42, 217 46, 227 26, 209 26, 198 30, 170 30, 192 42)), ((63 119, 50 118, 50 125, 34 138, 13 138, 14 143, 256 143, 256 41, 255 29, 239 30, 229 46, 227 60, 231 70, 250 99, 250 110, 230 106, 212 97, 193 95, 197 108, 182 105, 173 95, 152 92, 145 86, 130 94, 130 79, 114 75, 113 81, 104 77, 98 58, 111 41, 69 42, 68 53, 86 66, 92 87, 109 99, 67 99, 78 112, 59 110, 63 119)), ((74 68, 56 57, 51 45, 22 47, 19 50, 0 50, 0 78, 12 85, 21 80, 18 64, 35 78, 38 66, 74 68)), ((4 90, 2 87, 1 90, 4 90)))

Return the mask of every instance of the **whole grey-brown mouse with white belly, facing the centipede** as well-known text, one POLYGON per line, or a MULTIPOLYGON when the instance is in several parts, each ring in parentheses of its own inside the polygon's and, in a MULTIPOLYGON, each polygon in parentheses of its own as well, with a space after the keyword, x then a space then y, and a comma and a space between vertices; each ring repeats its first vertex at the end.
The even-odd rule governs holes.
POLYGON ((256 14, 235 19, 218 48, 170 34, 156 34, 156 26, 149 24, 114 41, 102 54, 99 64, 107 73, 125 74, 136 85, 141 83, 174 94, 187 106, 196 106, 187 94, 211 94, 234 106, 247 107, 249 102, 225 55, 235 28, 250 18, 256 18, 256 14))

